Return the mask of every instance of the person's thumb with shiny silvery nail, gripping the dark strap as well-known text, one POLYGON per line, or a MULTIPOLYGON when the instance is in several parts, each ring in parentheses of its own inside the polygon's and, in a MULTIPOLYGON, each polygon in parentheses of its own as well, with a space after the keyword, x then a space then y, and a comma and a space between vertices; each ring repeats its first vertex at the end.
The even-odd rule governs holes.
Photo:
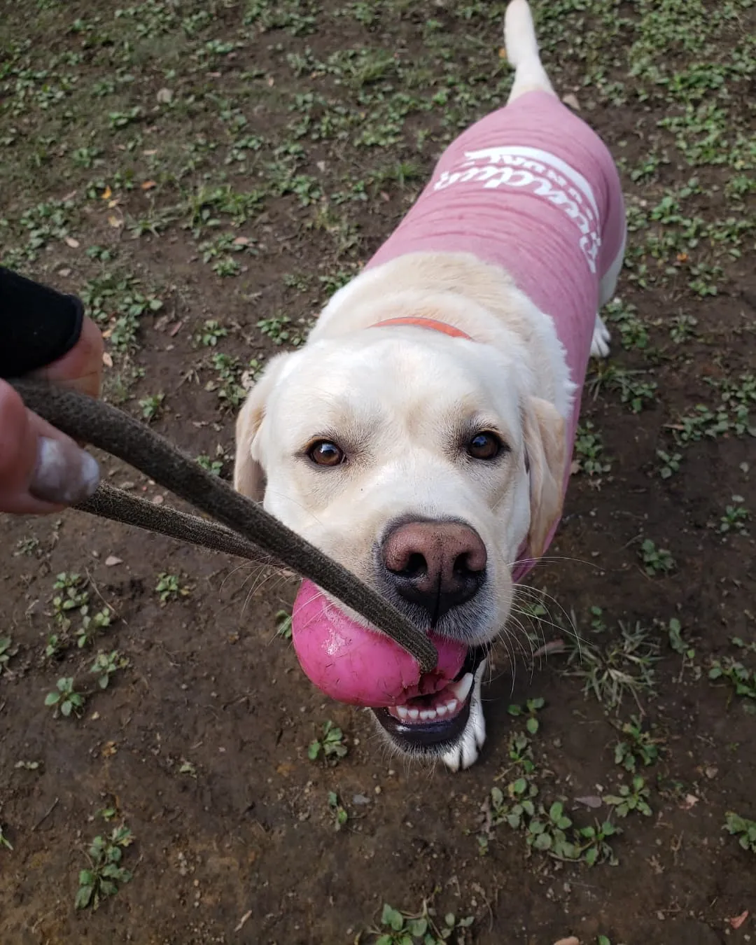
POLYGON ((94 456, 26 409, 0 381, 0 511, 39 515, 75 505, 99 484, 94 456))

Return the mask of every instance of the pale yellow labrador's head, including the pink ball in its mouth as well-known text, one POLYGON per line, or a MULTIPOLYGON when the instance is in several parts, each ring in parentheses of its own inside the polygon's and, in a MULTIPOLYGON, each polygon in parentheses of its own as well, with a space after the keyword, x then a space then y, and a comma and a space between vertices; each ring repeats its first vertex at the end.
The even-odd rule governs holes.
POLYGON ((236 489, 437 645, 437 670, 421 675, 397 644, 302 585, 293 629, 307 675, 372 708, 415 754, 460 737, 518 558, 538 558, 558 520, 564 422, 526 393, 520 346, 414 327, 313 340, 270 362, 237 421, 236 489))

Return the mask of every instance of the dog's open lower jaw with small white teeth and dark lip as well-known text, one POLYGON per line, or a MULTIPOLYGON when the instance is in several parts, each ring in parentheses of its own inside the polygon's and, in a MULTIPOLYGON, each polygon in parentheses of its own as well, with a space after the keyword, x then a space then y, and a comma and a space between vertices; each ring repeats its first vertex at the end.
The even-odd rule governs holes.
POLYGON ((371 709, 391 745, 419 759, 435 759, 453 750, 470 721, 475 676, 488 652, 486 646, 472 646, 455 679, 432 696, 371 709))

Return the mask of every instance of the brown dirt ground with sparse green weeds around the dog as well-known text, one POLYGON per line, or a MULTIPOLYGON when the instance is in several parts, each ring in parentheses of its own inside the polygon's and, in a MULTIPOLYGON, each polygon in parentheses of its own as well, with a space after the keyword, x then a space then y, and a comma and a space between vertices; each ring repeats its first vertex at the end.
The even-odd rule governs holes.
MULTIPOLYGON (((108 399, 228 476, 255 371, 504 100, 505 4, 3 8, 0 258, 81 295, 108 399)), ((756 941, 756 824, 732 818, 756 819, 756 8, 535 9, 631 232, 480 762, 406 765, 318 695, 294 580, 83 513, 6 517, 3 945, 756 941), (329 721, 347 753, 311 760, 329 721)))

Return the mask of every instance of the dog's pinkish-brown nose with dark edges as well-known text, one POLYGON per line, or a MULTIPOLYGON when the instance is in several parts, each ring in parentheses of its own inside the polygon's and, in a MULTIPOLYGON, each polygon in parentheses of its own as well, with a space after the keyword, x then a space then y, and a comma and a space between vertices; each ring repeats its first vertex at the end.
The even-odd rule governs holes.
POLYGON ((391 586, 426 610, 434 626, 480 590, 488 555, 470 525, 407 522, 388 532, 381 558, 391 586))

